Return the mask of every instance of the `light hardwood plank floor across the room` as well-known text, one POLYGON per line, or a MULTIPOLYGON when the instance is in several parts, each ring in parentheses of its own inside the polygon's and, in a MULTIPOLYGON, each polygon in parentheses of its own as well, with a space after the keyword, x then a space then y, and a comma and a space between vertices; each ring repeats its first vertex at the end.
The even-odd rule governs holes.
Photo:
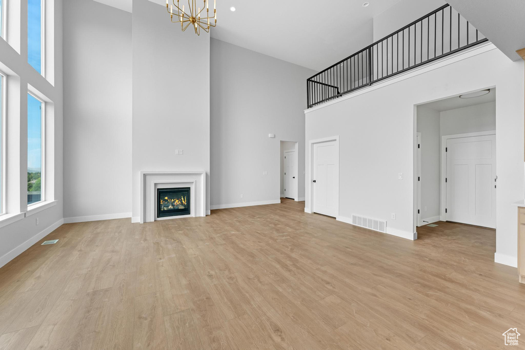
POLYGON ((409 241, 286 199, 62 225, 0 269, 0 349, 505 348, 525 285, 495 231, 438 225, 409 241))

